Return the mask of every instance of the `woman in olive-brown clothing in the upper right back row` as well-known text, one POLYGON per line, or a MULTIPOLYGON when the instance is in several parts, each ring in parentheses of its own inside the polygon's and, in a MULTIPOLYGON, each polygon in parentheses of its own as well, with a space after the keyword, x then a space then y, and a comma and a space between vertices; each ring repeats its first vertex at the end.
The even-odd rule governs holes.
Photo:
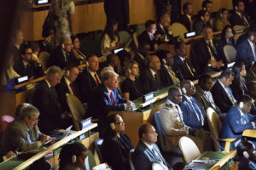
POLYGON ((225 26, 230 26, 228 20, 229 11, 227 8, 220 8, 217 14, 217 18, 213 24, 215 31, 222 31, 225 26))

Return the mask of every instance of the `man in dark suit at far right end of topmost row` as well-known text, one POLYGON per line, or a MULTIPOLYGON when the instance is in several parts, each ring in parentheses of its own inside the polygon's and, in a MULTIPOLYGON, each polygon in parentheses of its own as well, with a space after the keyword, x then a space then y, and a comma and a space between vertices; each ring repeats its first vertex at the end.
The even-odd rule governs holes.
POLYGON ((237 0, 235 3, 235 10, 230 16, 231 26, 250 26, 247 14, 244 13, 244 1, 237 0))

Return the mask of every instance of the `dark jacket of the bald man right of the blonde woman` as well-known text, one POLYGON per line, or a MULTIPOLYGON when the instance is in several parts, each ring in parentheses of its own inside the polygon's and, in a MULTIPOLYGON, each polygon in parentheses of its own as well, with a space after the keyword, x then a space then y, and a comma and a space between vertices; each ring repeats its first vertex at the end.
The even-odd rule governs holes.
POLYGON ((143 94, 148 94, 149 92, 160 90, 160 88, 163 87, 160 71, 157 72, 156 80, 154 81, 154 77, 149 68, 142 71, 142 74, 140 75, 140 81, 142 84, 141 92, 143 92, 143 94), (157 85, 159 85, 159 87, 157 87, 157 85))

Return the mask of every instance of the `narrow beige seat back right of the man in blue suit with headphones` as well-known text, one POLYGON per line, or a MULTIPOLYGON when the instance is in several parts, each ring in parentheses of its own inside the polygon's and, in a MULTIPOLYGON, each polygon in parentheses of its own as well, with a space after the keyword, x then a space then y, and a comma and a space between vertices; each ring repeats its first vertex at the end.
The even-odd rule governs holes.
MULTIPOLYGON (((211 108, 207 108, 207 121, 208 125, 210 127, 210 132, 212 134, 212 138, 216 139, 218 141, 218 134, 221 131, 221 122, 218 118, 217 113, 211 108)), ((214 142, 214 149, 216 151, 220 151, 221 149, 219 148, 218 144, 214 142)))

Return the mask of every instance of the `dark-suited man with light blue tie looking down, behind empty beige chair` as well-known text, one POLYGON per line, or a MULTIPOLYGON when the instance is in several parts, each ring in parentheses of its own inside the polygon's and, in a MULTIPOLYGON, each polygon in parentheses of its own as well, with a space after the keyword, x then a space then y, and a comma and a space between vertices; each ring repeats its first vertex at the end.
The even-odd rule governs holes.
POLYGON ((218 81, 215 82, 212 87, 213 99, 220 111, 223 113, 229 111, 232 105, 236 104, 236 99, 234 98, 230 88, 230 84, 233 80, 234 73, 232 71, 222 71, 218 81))

